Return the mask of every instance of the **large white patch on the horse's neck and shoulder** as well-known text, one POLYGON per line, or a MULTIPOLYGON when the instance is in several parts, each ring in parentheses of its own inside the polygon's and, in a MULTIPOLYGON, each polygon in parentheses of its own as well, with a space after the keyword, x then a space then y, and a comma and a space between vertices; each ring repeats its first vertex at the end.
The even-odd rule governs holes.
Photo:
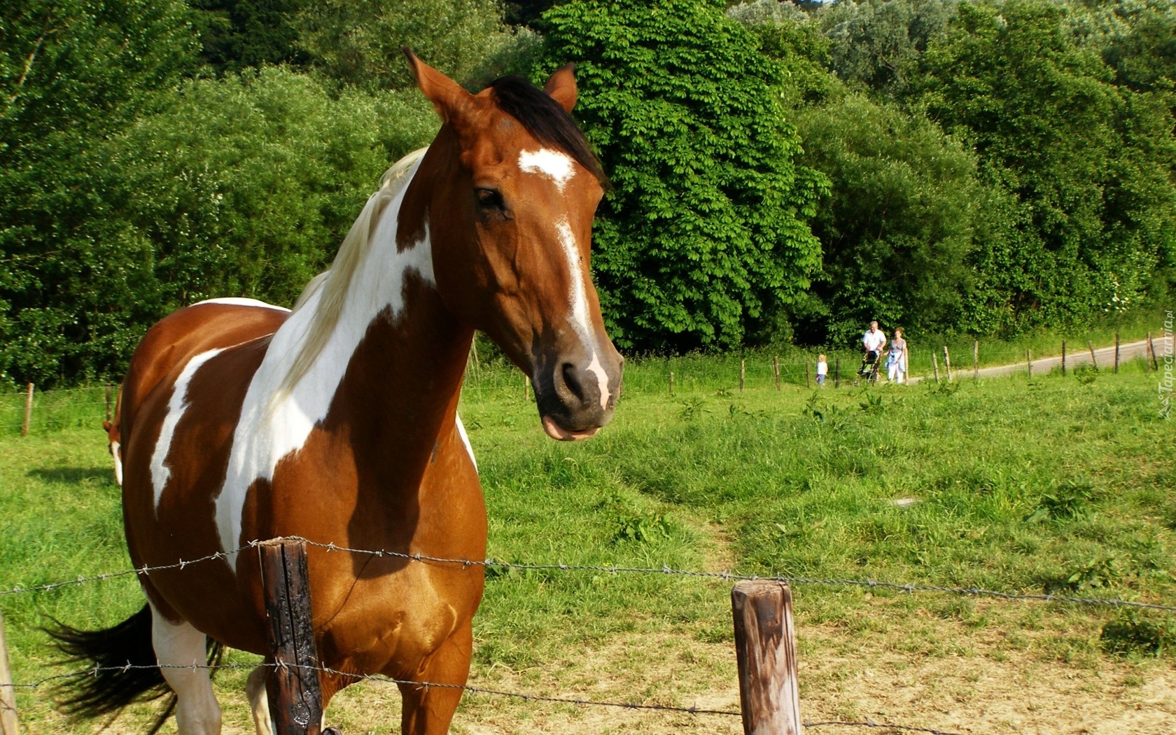
POLYGON ((216 496, 216 530, 233 569, 236 569, 236 549, 250 541, 241 537, 241 514, 249 487, 258 480, 273 480, 278 463, 301 449, 315 425, 327 417, 368 325, 386 309, 393 320, 403 313, 403 288, 409 273, 429 285, 436 283, 427 227, 425 238, 415 246, 396 248, 396 215, 407 188, 406 185, 380 214, 370 247, 347 289, 339 321, 322 353, 298 385, 274 400, 318 313, 322 288, 309 294, 306 303, 274 333, 261 366, 249 381, 233 433, 225 485, 216 496))

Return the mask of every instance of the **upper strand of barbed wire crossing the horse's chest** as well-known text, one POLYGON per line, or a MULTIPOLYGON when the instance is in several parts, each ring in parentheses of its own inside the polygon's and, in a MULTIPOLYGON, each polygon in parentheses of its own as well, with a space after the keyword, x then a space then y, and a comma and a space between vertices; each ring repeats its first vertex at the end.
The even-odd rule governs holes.
MULTIPOLYGON (((1121 599, 1105 599, 1105 597, 1075 597, 1068 595, 1055 595, 1055 594, 1033 594, 1033 593, 1005 593, 993 589, 983 589, 978 587, 944 587, 937 584, 914 584, 914 583, 898 583, 898 582, 886 582, 878 580, 841 580, 841 579, 817 579, 817 577, 800 577, 800 576, 760 576, 760 575, 744 575, 744 574, 733 574, 730 572, 695 572, 689 569, 674 569, 668 566, 663 566, 660 569, 655 567, 622 567, 619 564, 613 566, 597 566, 597 564, 564 564, 564 563, 522 563, 522 562, 507 562, 496 559, 452 559, 446 556, 429 556, 427 554, 408 554, 405 552, 393 552, 388 549, 358 549, 346 546, 339 546, 335 543, 322 543, 318 541, 310 541, 299 536, 286 536, 288 541, 301 541, 307 546, 325 549, 327 552, 340 552, 347 554, 368 554, 376 557, 390 556, 394 559, 403 559, 406 561, 415 561, 421 563, 435 563, 435 564, 460 564, 462 567, 483 567, 483 568, 502 568, 502 569, 519 569, 524 572, 597 572, 604 574, 666 574, 673 576, 688 576, 699 579, 716 579, 723 581, 768 581, 768 582, 787 582, 789 584, 821 584, 821 586, 843 586, 843 587, 864 587, 870 589, 893 589, 896 592, 904 592, 907 594, 934 592, 954 594, 968 597, 996 597, 1001 600, 1031 600, 1040 602, 1064 602, 1070 604, 1087 604, 1087 606, 1102 606, 1102 607, 1114 607, 1114 608, 1142 608, 1151 610, 1163 610, 1163 612, 1176 612, 1176 606, 1162 604, 1156 602, 1137 602, 1134 600, 1121 600, 1121 599)), ((250 541, 246 546, 242 546, 233 552, 216 552, 214 554, 208 554, 207 556, 201 556, 199 559, 193 559, 189 561, 179 561, 171 564, 161 564, 158 567, 143 566, 138 569, 127 569, 123 572, 114 572, 107 574, 99 574, 94 576, 79 576, 74 580, 64 580, 60 582, 49 582, 46 584, 36 584, 33 587, 13 587, 11 589, 0 590, 0 596, 14 595, 21 593, 32 592, 44 592, 48 589, 56 589, 59 587, 67 587, 71 584, 80 584, 83 582, 93 582, 108 580, 119 576, 127 576, 131 574, 149 574, 151 572, 160 572, 165 569, 183 569, 191 564, 214 561, 218 559, 228 560, 232 554, 240 554, 248 549, 255 548, 262 543, 261 541, 250 541)))

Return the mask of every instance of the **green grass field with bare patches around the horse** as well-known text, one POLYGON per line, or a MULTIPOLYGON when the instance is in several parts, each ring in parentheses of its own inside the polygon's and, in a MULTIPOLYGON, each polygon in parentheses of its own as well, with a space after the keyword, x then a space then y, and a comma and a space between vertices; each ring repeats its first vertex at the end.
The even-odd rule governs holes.
MULTIPOLYGON (((462 416, 492 557, 1176 604, 1176 432, 1160 415, 1156 374, 1140 361, 1118 375, 868 393, 776 392, 769 381, 740 393, 716 369, 680 381, 674 396, 668 365, 630 363, 614 423, 575 445, 543 436, 517 373, 480 376, 462 416)), ((71 395, 86 406, 62 400, 32 436, 0 436, 0 589, 129 566, 98 428, 101 390, 71 395)), ((6 400, 5 415, 19 410, 6 400)), ((721 580, 683 576, 495 573, 475 619, 472 682, 737 709, 728 593, 721 580)), ((1176 731, 1172 614, 823 584, 796 584, 794 597, 807 720, 1176 731)), ((48 617, 111 624, 140 604, 131 577, 0 596, 18 681, 60 670, 38 632, 48 617)), ((229 733, 249 729, 243 679, 218 679, 229 733)), ((348 735, 388 731, 397 699, 389 686, 356 686, 328 721, 348 735)), ((31 731, 94 729, 65 722, 46 700, 44 688, 18 695, 31 731)), ((148 714, 142 707, 113 729, 134 731, 148 714)), ((741 731, 737 717, 485 695, 467 696, 454 726, 539 729, 741 731)))

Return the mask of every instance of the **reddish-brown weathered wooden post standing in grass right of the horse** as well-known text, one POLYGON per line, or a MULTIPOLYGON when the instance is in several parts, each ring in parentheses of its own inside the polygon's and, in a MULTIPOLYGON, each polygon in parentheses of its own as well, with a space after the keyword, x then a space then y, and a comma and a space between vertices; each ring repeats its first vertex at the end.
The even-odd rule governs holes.
POLYGON ((784 582, 743 581, 731 590, 744 735, 801 735, 793 595, 784 582))

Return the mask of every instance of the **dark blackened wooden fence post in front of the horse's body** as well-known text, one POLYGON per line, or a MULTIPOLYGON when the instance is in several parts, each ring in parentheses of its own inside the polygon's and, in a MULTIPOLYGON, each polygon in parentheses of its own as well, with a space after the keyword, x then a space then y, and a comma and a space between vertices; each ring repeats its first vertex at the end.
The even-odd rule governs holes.
POLYGON ((269 619, 266 676, 274 735, 320 735, 322 689, 310 619, 310 586, 302 539, 272 539, 258 544, 261 583, 269 619))

